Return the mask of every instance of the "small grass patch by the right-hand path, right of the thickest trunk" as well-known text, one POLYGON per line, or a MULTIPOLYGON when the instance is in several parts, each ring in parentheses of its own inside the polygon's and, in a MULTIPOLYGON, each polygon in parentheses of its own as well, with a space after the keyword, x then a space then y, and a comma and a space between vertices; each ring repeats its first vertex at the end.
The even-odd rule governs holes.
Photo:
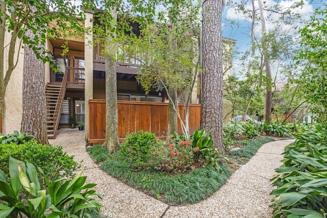
POLYGON ((265 143, 274 141, 270 137, 259 138, 253 141, 248 141, 244 147, 239 150, 229 152, 229 157, 236 160, 239 164, 247 163, 258 149, 265 143))

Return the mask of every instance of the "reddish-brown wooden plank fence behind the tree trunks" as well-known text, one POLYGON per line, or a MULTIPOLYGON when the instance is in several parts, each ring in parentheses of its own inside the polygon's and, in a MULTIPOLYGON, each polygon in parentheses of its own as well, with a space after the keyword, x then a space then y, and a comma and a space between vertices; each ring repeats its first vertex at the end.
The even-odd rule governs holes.
MULTIPOLYGON (((200 124, 200 104, 189 106, 189 126, 192 134, 200 124)), ((184 105, 179 105, 184 119, 184 105)), ((118 137, 139 130, 149 131, 157 137, 167 136, 168 103, 118 101, 118 137)), ((89 100, 89 143, 103 143, 106 136, 106 101, 89 100)), ((178 122, 178 132, 181 132, 178 122)))

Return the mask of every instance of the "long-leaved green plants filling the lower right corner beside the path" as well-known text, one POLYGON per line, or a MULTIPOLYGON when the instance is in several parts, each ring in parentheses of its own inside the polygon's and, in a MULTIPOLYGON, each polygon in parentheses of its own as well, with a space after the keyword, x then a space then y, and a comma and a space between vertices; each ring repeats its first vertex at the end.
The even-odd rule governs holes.
POLYGON ((327 129, 316 125, 293 134, 283 165, 272 178, 274 217, 326 217, 327 129))

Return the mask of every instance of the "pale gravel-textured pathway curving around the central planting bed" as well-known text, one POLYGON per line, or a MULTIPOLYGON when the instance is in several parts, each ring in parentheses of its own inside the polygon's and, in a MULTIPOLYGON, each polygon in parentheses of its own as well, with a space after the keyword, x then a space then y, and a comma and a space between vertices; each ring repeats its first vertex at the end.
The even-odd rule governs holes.
POLYGON ((57 138, 49 140, 55 146, 62 146, 67 154, 75 155, 76 161, 83 160, 82 165, 86 167, 83 175, 87 176, 87 182, 98 184, 95 189, 104 195, 100 201, 104 205, 102 213, 112 218, 271 217, 269 180, 274 169, 281 165, 285 146, 293 141, 264 144, 208 199, 194 205, 169 206, 101 171, 85 152, 84 131, 59 130, 57 138))

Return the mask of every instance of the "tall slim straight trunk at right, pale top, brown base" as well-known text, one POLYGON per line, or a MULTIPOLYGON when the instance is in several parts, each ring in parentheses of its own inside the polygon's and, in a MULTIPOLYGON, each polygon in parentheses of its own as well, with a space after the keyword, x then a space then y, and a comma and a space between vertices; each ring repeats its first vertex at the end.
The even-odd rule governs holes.
MULTIPOLYGON (((265 22, 265 16, 264 16, 264 9, 263 9, 263 4, 261 0, 258 0, 259 4, 259 10, 260 10, 260 20, 261 20, 261 26, 262 26, 262 32, 263 36, 266 35, 266 22, 265 22)), ((266 43, 267 40, 266 40, 266 43)), ((265 44, 263 46, 263 55, 264 55, 264 60, 265 60, 265 68, 266 68, 266 77, 268 78, 268 83, 266 87, 266 117, 265 121, 266 123, 271 122, 271 106, 272 106, 272 92, 271 92, 271 68, 270 68, 270 63, 269 63, 269 58, 268 58, 268 44, 265 44)))

